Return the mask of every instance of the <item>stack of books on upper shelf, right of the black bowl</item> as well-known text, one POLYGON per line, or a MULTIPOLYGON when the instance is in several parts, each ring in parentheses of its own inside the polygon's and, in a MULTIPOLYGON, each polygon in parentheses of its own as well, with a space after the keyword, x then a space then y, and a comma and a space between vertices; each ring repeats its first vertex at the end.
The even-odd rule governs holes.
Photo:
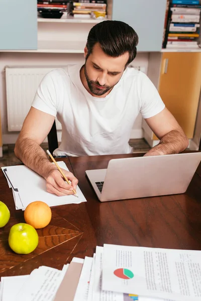
POLYGON ((107 3, 105 0, 77 0, 71 2, 68 14, 73 17, 90 18, 92 14, 105 17, 107 3))

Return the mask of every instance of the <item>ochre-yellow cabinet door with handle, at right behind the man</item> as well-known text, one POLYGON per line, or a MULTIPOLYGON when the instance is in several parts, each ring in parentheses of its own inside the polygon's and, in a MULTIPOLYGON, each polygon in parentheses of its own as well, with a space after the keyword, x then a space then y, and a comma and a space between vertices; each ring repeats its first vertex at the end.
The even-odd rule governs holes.
POLYGON ((201 53, 163 53, 159 93, 188 138, 193 137, 201 88, 201 53))

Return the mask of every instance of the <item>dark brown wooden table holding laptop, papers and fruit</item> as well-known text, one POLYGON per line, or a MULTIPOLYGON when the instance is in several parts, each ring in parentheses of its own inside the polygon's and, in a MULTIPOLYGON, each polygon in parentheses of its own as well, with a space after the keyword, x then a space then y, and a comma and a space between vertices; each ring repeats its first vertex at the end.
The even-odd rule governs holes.
POLYGON ((0 200, 9 207, 11 219, 0 229, 0 276, 28 274, 40 265, 61 269, 73 256, 92 256, 96 245, 104 243, 201 250, 201 164, 185 194, 98 201, 85 170, 107 168, 112 158, 142 155, 58 160, 74 172, 87 202, 52 208, 50 225, 37 230, 39 245, 28 255, 15 254, 8 245, 11 226, 24 222, 24 217, 23 211, 15 210, 12 191, 1 171, 0 200))

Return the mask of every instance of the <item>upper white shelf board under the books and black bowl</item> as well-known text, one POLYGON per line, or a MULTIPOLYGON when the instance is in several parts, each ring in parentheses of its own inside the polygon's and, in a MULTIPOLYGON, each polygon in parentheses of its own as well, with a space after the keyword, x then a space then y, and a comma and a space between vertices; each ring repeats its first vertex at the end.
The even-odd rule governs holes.
MULTIPOLYGON (((107 20, 107 19, 104 19, 107 20)), ((48 23, 99 23, 102 22, 104 20, 96 20, 96 19, 92 19, 90 17, 88 18, 74 18, 73 16, 67 16, 63 15, 60 19, 49 19, 49 18, 41 18, 38 17, 38 22, 48 22, 48 23)))

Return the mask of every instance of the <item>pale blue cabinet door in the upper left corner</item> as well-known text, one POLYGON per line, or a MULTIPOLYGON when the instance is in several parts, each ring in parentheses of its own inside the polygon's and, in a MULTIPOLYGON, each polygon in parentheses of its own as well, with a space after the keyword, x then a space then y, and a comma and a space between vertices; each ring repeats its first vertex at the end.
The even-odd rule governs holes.
POLYGON ((0 50, 37 49, 37 0, 0 0, 0 50))

